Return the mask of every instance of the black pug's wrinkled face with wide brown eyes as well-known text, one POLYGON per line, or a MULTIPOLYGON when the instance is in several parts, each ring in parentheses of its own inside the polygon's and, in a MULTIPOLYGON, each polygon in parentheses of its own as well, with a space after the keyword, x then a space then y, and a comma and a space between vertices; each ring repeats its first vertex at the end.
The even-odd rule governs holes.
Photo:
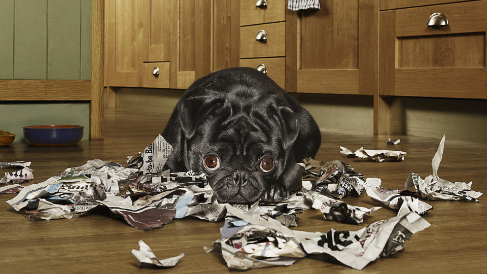
POLYGON ((202 123, 186 144, 189 167, 207 174, 219 202, 282 198, 287 191, 278 182, 285 166, 279 126, 251 116, 232 120, 214 116, 202 123))

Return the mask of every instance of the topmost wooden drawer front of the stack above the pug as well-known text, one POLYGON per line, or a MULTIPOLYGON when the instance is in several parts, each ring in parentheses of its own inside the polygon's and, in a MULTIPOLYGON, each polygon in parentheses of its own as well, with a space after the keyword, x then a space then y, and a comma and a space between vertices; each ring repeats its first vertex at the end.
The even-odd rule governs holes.
POLYGON ((240 0, 240 25, 255 25, 284 21, 286 0, 267 0, 266 8, 256 7, 257 0, 240 0))

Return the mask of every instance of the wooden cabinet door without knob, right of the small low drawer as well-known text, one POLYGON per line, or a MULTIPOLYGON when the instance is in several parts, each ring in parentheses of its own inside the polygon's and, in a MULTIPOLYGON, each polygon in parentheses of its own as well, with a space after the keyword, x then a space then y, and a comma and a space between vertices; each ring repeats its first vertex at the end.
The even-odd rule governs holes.
POLYGON ((188 88, 211 72, 211 0, 171 0, 170 87, 188 88))

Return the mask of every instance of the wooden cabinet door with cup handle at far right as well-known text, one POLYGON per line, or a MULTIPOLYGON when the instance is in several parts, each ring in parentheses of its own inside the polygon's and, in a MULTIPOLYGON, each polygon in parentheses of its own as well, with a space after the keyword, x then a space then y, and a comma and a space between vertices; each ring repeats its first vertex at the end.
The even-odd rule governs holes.
POLYGON ((379 13, 380 95, 487 98, 486 1, 379 13))

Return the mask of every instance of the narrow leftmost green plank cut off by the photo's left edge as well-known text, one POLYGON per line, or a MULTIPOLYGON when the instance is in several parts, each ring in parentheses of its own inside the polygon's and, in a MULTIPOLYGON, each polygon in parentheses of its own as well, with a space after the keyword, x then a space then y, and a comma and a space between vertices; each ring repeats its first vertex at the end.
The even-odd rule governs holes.
POLYGON ((0 1, 0 79, 14 77, 14 0, 0 1))

